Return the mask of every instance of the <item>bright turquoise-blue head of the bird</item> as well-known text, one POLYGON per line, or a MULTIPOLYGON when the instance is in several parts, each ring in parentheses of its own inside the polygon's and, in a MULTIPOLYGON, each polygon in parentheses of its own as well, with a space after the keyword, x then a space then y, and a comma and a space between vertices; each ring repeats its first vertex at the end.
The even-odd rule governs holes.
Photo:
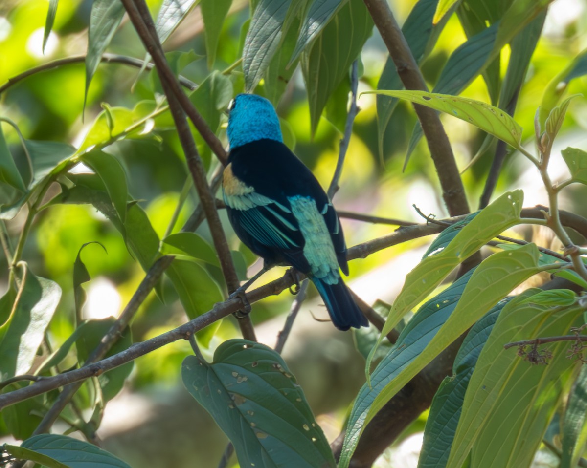
POLYGON ((269 138, 284 141, 273 105, 256 94, 238 94, 228 109, 228 143, 237 148, 269 138))

